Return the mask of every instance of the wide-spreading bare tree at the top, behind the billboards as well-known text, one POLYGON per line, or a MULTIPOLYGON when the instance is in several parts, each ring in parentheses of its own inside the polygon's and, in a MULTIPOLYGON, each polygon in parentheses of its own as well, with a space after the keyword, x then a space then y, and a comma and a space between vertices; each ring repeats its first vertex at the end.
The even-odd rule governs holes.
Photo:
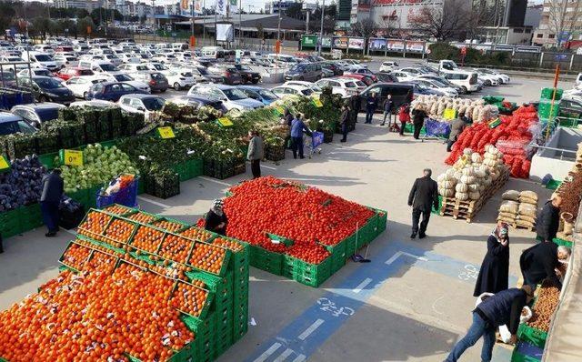
POLYGON ((445 0, 441 6, 425 6, 411 15, 409 24, 418 32, 438 41, 463 35, 473 21, 471 5, 465 0, 445 0))

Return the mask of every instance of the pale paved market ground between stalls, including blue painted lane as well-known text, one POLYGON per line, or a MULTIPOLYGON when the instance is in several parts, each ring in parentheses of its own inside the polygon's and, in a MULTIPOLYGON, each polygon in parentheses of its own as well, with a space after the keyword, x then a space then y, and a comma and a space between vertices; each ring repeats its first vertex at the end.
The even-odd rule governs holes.
MULTIPOLYGON (((512 99, 528 88, 507 87, 512 99)), ((523 95, 522 95, 523 96, 523 95)), ((487 202, 472 224, 433 216, 424 240, 410 240, 410 209, 406 197, 426 166, 436 175, 446 169, 445 145, 424 143, 410 136, 387 134, 385 127, 359 123, 346 144, 338 137, 312 159, 264 163, 263 172, 295 179, 388 211, 387 231, 370 246, 369 264, 348 263, 318 288, 305 287, 251 268, 250 326, 220 358, 230 361, 441 361, 470 324, 477 270, 486 253, 500 194, 487 202)), ((247 167, 248 168, 248 167, 247 167)), ((249 171, 250 172, 250 171, 249 171)), ((223 181, 198 177, 181 185, 181 195, 167 200, 143 196, 146 211, 195 221, 210 201, 230 185, 247 178, 223 181)), ((507 188, 540 186, 510 180, 507 188)), ((53 239, 36 229, 5 240, 0 255, 0 309, 33 293, 57 274, 57 259, 73 236, 61 232, 53 239)), ((511 234, 511 284, 515 284, 520 251, 533 244, 533 233, 511 234)), ((362 250, 364 252, 364 250, 362 250)), ((480 344, 464 361, 476 361, 480 344)), ((507 348, 496 347, 495 360, 508 361, 507 348)))

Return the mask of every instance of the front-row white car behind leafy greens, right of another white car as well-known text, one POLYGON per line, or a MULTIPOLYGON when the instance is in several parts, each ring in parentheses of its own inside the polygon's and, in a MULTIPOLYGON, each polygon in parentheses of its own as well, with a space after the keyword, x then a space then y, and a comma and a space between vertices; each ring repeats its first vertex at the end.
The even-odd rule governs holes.
POLYGON ((263 103, 249 98, 246 94, 232 85, 194 85, 188 91, 188 96, 206 96, 220 100, 226 109, 240 111, 263 107, 263 103))

